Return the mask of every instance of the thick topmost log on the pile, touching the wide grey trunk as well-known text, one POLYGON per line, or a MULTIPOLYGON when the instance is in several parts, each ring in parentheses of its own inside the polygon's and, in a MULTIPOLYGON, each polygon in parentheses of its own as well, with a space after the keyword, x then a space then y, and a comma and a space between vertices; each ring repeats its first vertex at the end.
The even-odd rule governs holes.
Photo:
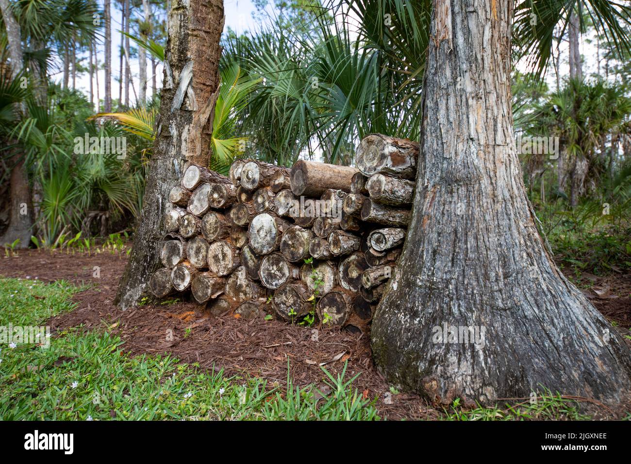
POLYGON ((365 136, 357 147, 355 163, 362 174, 371 176, 380 172, 414 179, 418 162, 418 143, 382 134, 365 136))

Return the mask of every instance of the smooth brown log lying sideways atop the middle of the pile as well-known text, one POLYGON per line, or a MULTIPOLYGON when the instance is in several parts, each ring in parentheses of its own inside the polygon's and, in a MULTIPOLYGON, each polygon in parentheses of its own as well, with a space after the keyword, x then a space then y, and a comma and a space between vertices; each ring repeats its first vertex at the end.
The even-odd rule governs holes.
POLYGON ((356 172, 354 167, 298 160, 292 167, 290 184, 295 195, 319 197, 326 189, 348 192, 356 172))

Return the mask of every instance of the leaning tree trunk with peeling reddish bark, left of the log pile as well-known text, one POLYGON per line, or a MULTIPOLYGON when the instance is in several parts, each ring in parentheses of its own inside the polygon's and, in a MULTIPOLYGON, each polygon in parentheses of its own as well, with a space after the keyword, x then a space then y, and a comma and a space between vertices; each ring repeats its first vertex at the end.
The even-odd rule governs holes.
POLYGON ((213 109, 219 87, 222 0, 178 0, 168 16, 160 116, 143 198, 143 210, 115 304, 133 306, 148 276, 160 266, 170 190, 186 165, 209 161, 213 109), (194 101, 191 96, 194 96, 194 101), (191 99, 189 99, 191 98, 191 99))

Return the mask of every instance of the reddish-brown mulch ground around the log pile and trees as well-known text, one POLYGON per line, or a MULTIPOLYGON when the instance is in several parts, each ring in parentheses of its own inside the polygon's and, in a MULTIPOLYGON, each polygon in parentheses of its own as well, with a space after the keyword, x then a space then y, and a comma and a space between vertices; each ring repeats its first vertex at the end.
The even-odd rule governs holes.
MULTIPOLYGON (((82 326, 85 330, 107 326, 124 341, 133 354, 172 354, 183 362, 206 369, 224 369, 228 376, 249 374, 284 385, 287 365, 295 383, 324 388, 319 364, 329 372, 340 372, 348 360, 347 376, 360 373, 353 383, 367 398, 378 397, 381 417, 388 419, 436 419, 439 410, 416 395, 392 395, 384 403, 389 386, 375 369, 367 334, 346 330, 293 326, 262 317, 245 320, 233 314, 212 316, 193 302, 146 304, 120 311, 112 301, 126 263, 124 253, 66 254, 58 251, 27 250, 18 256, 0 258, 0 276, 35 278, 44 282, 64 279, 88 290, 74 295, 78 307, 49 321, 52 331, 82 326), (98 266, 98 269, 95 268, 98 266), (94 277, 98 271, 99 277, 94 277), (186 331, 188 330, 188 335, 186 331), (172 334, 172 340, 167 335, 172 334)), ((584 290, 594 305, 621 330, 631 327, 631 275, 596 277, 584 275, 593 289, 584 290), (596 290, 596 291, 594 291, 596 290)), ((348 378, 348 377, 347 377, 348 378)), ((625 412, 611 413, 589 408, 599 419, 619 418, 625 412)))

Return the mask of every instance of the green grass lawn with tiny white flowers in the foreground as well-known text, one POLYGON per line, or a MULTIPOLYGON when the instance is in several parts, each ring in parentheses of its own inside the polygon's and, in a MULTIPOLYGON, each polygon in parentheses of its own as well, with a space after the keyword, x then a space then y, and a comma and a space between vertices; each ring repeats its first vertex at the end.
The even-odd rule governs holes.
MULTIPOLYGON (((57 281, 0 279, 0 326, 36 326, 74 307, 82 289, 57 281)), ((0 345, 0 419, 232 419, 374 420, 370 398, 353 389, 354 378, 334 378, 330 391, 267 384, 261 379, 227 378, 180 364, 165 356, 130 357, 121 340, 102 331, 76 328, 53 334, 47 343, 0 345)), ((398 393, 396 391, 394 394, 398 393)), ((505 408, 465 410, 456 400, 444 420, 589 419, 579 404, 558 395, 537 395, 505 408)))

